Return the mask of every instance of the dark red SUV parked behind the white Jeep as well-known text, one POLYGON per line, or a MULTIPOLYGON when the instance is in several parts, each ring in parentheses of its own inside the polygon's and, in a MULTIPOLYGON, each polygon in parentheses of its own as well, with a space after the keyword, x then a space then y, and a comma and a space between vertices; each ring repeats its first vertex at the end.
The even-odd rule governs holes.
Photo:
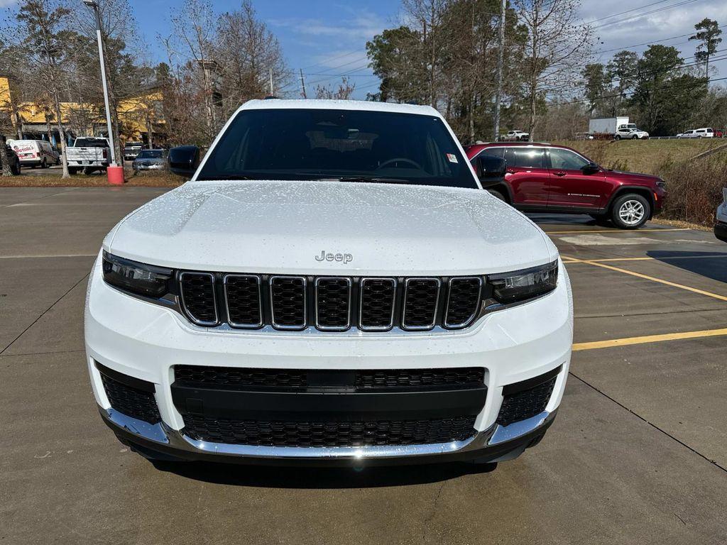
POLYGON ((522 211, 590 214, 635 229, 661 211, 666 195, 659 177, 603 169, 565 146, 497 142, 465 150, 483 187, 522 211), (502 159, 504 177, 491 169, 502 159))

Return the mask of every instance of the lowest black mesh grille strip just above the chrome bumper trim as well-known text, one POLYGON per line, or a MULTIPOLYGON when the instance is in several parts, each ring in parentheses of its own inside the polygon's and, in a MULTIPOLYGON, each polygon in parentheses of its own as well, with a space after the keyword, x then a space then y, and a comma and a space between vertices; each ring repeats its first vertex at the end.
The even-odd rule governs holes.
POLYGON ((363 447, 461 441, 475 434, 475 416, 429 420, 289 422, 223 420, 185 415, 186 435, 228 445, 363 447))

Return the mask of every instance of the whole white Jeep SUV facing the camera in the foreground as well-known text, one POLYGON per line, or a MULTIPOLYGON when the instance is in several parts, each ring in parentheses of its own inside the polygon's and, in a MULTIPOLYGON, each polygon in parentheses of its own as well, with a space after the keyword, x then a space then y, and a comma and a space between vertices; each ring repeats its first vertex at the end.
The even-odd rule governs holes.
MULTIPOLYGON (((172 154, 170 154, 172 155, 172 154)), ((89 280, 106 424, 150 459, 512 459, 553 422, 573 310, 550 239, 432 108, 254 100, 89 280)))

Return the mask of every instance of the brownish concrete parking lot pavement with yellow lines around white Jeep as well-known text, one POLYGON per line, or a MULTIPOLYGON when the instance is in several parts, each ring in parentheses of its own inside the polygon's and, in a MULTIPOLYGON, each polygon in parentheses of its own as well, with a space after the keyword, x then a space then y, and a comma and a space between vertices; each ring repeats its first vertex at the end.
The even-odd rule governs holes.
POLYGON ((0 541, 6 544, 727 543, 727 244, 534 216, 575 300, 571 376, 534 450, 465 466, 157 469, 102 423, 87 273, 164 190, 0 188, 0 541))

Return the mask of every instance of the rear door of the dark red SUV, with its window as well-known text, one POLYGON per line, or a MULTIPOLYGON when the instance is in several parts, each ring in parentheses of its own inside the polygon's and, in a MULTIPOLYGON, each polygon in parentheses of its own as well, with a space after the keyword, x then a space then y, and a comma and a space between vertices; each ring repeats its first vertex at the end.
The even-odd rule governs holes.
POLYGON ((523 208, 545 208, 550 180, 545 166, 545 148, 509 146, 505 148, 505 161, 505 182, 510 186, 513 204, 523 208))

